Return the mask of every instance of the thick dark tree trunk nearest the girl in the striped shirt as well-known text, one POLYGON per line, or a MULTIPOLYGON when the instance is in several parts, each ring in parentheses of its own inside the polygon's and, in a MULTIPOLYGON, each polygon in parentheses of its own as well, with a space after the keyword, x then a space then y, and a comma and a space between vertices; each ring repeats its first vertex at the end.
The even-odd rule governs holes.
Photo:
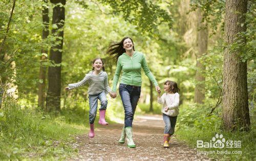
POLYGON ((63 47, 63 26, 65 22, 65 8, 62 5, 66 4, 65 0, 52 1, 55 4, 52 16, 52 34, 57 37, 58 44, 51 47, 50 61, 53 66, 48 68, 48 91, 46 98, 46 111, 60 111, 60 88, 61 88, 61 56, 63 47), (55 28, 56 26, 56 28, 55 28))

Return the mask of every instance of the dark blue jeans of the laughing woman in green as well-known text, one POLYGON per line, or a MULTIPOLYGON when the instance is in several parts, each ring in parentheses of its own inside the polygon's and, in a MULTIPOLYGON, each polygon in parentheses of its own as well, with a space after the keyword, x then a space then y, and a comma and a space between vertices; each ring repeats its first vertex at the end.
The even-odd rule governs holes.
POLYGON ((120 84, 119 94, 124 109, 124 126, 133 126, 133 117, 140 98, 141 87, 120 84))

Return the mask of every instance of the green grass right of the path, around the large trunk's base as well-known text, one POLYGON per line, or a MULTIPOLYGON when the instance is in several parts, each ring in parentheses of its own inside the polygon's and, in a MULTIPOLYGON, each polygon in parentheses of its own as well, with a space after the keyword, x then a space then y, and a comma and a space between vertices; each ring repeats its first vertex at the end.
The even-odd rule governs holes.
MULTIPOLYGON (((220 110, 214 115, 206 116, 209 112, 207 107, 199 107, 195 104, 183 104, 180 107, 175 136, 178 140, 185 141, 191 148, 197 148, 197 140, 210 142, 216 133, 223 135, 226 141, 241 141, 241 148, 197 148, 198 151, 215 151, 216 154, 209 154, 211 158, 223 160, 254 160, 255 159, 255 125, 251 118, 251 130, 243 131, 224 131, 221 130, 220 110), (241 151, 242 154, 217 154, 218 151, 241 151)), ((214 142, 213 142, 214 143, 214 142)))

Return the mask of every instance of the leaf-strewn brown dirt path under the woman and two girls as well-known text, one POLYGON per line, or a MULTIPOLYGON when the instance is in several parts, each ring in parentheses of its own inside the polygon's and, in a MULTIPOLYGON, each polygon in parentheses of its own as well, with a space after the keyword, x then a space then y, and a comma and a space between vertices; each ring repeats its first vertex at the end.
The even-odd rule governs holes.
MULTIPOLYGON (((96 121, 96 120, 95 120, 96 121)), ((163 127, 161 115, 137 116, 133 123, 136 148, 118 144, 122 124, 110 124, 96 128, 95 137, 88 133, 77 138, 79 156, 71 160, 201 160, 209 159, 198 155, 173 137, 170 148, 163 148, 163 127)))

